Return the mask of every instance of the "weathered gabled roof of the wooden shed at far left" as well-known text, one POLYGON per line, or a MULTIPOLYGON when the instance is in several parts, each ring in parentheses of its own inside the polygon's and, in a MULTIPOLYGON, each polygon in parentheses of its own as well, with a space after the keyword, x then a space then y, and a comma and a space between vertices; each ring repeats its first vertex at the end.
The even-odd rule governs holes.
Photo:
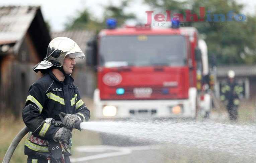
POLYGON ((27 32, 42 58, 51 38, 40 6, 0 7, 0 45, 14 43, 13 50, 18 53, 27 32))

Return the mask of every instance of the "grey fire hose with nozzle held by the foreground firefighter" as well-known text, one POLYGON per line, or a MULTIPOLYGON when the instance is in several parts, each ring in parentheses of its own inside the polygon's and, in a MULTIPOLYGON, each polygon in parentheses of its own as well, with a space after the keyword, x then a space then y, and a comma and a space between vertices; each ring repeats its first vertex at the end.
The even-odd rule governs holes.
MULTIPOLYGON (((61 116, 61 120, 63 119, 63 117, 61 116)), ((48 118, 45 120, 46 123, 49 123, 51 125, 54 125, 56 127, 63 127, 62 121, 56 121, 53 118, 48 118)), ((76 122, 75 123, 75 128, 78 130, 81 130, 80 128, 80 124, 82 121, 76 122)), ((11 157, 16 149, 16 147, 18 146, 19 142, 21 141, 21 139, 29 132, 29 129, 25 126, 24 128, 22 128, 19 133, 15 136, 15 138, 12 140, 10 146, 8 147, 3 162, 2 163, 9 163, 11 160, 11 157)))

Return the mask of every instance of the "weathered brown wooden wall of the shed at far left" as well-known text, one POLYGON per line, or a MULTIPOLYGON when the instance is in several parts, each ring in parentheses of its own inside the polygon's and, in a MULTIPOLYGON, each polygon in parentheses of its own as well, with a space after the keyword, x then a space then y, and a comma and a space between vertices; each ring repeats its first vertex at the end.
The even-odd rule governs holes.
POLYGON ((33 43, 26 34, 18 54, 8 54, 0 60, 1 113, 7 111, 16 117, 20 116, 30 85, 41 76, 32 70, 39 62, 37 56, 33 43))

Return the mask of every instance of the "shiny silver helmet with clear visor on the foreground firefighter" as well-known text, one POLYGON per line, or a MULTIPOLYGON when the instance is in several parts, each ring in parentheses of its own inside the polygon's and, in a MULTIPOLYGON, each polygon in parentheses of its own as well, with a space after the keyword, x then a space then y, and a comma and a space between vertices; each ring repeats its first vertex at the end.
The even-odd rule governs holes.
POLYGON ((36 64, 33 70, 38 72, 52 66, 61 67, 67 55, 70 58, 85 58, 83 51, 75 41, 68 37, 56 37, 49 43, 45 59, 36 64))

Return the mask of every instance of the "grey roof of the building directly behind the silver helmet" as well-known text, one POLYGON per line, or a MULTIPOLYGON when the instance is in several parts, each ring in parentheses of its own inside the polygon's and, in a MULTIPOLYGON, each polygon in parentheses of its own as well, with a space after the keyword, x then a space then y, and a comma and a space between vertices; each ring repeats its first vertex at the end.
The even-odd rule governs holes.
POLYGON ((85 53, 87 42, 95 35, 94 32, 86 30, 74 30, 74 31, 63 31, 63 32, 53 32, 51 33, 52 38, 55 37, 68 37, 74 40, 77 45, 85 53))

